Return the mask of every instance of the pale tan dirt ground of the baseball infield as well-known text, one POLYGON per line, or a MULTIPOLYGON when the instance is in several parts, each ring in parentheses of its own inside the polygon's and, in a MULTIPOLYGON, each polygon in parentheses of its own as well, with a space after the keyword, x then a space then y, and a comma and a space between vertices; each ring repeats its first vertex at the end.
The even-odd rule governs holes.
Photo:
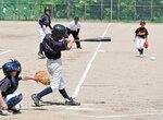
MULTIPOLYGON (((46 59, 37 58, 37 23, 0 24, 0 65, 10 59, 17 59, 23 67, 22 75, 34 75, 36 71, 45 70, 46 59)), ((22 113, 0 116, 0 120, 162 120, 163 24, 147 24, 149 48, 143 58, 138 57, 133 41, 137 23, 108 25, 83 23, 82 38, 99 37, 104 32, 105 36, 112 38, 111 43, 102 43, 97 52, 100 43, 82 43, 82 50, 74 45, 71 51, 63 52, 63 77, 71 95, 86 71, 87 63, 97 53, 76 95, 82 106, 63 106, 61 95, 52 93, 43 98, 51 101, 51 105, 35 107, 30 95, 45 86, 33 81, 21 82, 18 92, 24 95, 22 113), (155 61, 151 61, 151 57, 155 57, 155 61)))

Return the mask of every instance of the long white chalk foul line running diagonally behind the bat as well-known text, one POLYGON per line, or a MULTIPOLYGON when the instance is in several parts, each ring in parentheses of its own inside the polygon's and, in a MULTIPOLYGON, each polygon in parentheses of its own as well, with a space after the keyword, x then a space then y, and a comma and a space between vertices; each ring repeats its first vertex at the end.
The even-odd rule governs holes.
MULTIPOLYGON (((111 25, 111 23, 108 24, 108 26, 106 26, 106 28, 105 28, 105 31, 104 31, 102 37, 105 36, 105 34, 106 34, 106 32, 108 32, 110 25, 111 25)), ((88 62, 87 68, 86 68, 86 70, 85 70, 85 72, 83 73, 83 75, 82 75, 82 77, 80 77, 80 80, 79 80, 79 82, 78 82, 78 84, 77 84, 77 86, 76 86, 76 88, 75 88, 73 95, 72 95, 73 98, 76 98, 76 97, 77 97, 77 95, 78 95, 78 93, 79 93, 79 89, 80 89, 80 86, 83 85, 83 83, 84 83, 84 81, 85 81, 85 79, 86 79, 86 76, 87 76, 87 74, 88 74, 88 72, 89 72, 89 70, 90 70, 91 64, 92 64, 93 60, 96 59, 96 57, 97 57, 97 55, 98 55, 98 50, 99 50, 99 48, 101 47, 101 45, 102 45, 102 43, 100 41, 99 45, 98 45, 97 48, 96 48, 96 51, 95 51, 93 56, 91 57, 90 61, 88 62)))

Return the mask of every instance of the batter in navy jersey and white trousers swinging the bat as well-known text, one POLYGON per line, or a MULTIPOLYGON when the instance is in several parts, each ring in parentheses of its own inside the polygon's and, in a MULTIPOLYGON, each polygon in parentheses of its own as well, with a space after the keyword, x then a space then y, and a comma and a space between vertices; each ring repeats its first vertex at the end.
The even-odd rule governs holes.
POLYGON ((65 91, 65 83, 62 77, 61 51, 70 50, 74 43, 74 40, 67 38, 66 33, 67 31, 65 26, 57 24, 52 28, 52 34, 47 34, 43 39, 43 52, 48 59, 47 69, 51 75, 51 79, 50 85, 47 88, 37 94, 32 95, 34 104, 38 107, 40 106, 40 100, 43 96, 57 91, 59 91, 65 99, 65 105, 80 105, 67 95, 65 91))

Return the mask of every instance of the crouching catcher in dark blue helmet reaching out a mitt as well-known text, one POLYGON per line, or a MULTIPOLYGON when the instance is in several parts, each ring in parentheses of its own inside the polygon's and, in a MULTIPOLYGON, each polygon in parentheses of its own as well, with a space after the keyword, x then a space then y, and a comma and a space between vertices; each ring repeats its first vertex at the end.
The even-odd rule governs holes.
POLYGON ((21 80, 26 81, 29 79, 22 79, 20 76, 22 67, 17 60, 11 60, 4 63, 2 70, 5 76, 0 81, 0 112, 7 116, 21 110, 20 101, 23 99, 23 95, 15 93, 15 91, 21 80))

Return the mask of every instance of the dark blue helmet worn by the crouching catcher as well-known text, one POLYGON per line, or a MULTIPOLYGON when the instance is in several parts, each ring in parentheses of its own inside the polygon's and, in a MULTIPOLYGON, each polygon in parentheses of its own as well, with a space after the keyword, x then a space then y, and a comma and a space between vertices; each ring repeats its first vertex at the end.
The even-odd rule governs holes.
POLYGON ((2 65, 3 73, 7 76, 11 76, 11 73, 13 71, 17 71, 17 72, 21 71, 20 69, 21 69, 20 65, 14 61, 7 62, 2 65))

